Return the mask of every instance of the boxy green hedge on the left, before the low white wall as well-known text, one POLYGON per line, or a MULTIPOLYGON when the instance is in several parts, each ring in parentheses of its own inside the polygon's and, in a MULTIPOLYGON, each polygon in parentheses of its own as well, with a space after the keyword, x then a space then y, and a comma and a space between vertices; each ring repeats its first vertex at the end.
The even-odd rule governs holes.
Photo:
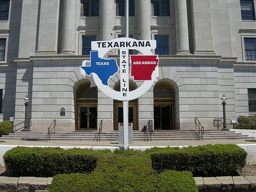
POLYGON ((111 153, 108 150, 72 148, 16 147, 4 156, 6 170, 13 176, 43 176, 56 174, 90 173, 98 157, 111 153))

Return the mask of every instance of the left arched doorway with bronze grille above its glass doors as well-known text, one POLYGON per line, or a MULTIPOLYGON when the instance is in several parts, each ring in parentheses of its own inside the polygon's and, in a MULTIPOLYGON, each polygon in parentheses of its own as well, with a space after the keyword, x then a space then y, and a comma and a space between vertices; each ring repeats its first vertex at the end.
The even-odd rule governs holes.
POLYGON ((98 89, 83 84, 76 93, 76 130, 97 130, 98 89))

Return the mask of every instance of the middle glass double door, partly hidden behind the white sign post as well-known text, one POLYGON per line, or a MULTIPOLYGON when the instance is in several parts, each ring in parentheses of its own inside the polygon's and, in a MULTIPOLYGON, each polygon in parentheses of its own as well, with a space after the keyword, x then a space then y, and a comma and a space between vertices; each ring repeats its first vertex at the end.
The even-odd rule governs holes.
MULTIPOLYGON (((128 122, 132 123, 133 130, 138 130, 137 119, 137 104, 129 104, 128 122)), ((124 122, 124 112, 122 103, 115 103, 114 105, 114 122, 114 130, 118 130, 118 123, 124 122)))

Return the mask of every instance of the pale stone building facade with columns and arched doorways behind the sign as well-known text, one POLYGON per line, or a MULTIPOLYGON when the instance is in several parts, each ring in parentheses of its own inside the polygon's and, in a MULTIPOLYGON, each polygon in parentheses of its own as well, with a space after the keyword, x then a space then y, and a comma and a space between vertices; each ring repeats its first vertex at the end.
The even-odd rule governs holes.
MULTIPOLYGON (((255 0, 130 0, 130 37, 156 40, 159 78, 129 104, 142 130, 204 128, 222 116, 256 114, 255 0)), ((80 73, 90 42, 125 33, 124 0, 0 0, 0 120, 24 121, 32 131, 118 130, 122 103, 90 87, 80 73), (61 108, 65 115, 60 114, 61 108)), ((118 50, 109 52, 118 60, 118 50)), ((130 54, 137 54, 131 52, 130 54)), ((120 89, 118 74, 110 86, 120 89)), ((140 82, 130 78, 130 89, 140 82)))

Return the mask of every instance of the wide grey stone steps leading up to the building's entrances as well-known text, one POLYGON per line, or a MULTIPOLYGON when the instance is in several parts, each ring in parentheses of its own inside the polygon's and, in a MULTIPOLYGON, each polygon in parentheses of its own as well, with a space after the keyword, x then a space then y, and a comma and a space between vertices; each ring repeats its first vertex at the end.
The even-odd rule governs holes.
MULTIPOLYGON (((16 132, 15 134, 3 135, 0 140, 47 140, 47 132, 16 132)), ((152 141, 171 141, 171 140, 201 140, 198 130, 169 130, 154 131, 151 136, 152 141)), ((255 139, 235 133, 234 131, 204 130, 203 140, 230 140, 230 139, 255 139)), ((94 131, 72 131, 56 132, 50 136, 51 141, 118 141, 118 132, 100 133, 94 131)), ((134 141, 150 141, 150 133, 133 132, 134 141)))

